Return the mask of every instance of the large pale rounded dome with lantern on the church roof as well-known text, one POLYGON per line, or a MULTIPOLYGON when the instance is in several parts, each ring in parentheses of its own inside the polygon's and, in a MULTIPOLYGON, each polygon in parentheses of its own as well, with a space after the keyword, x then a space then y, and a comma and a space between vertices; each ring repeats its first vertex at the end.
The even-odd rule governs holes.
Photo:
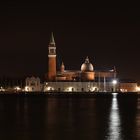
POLYGON ((86 58, 85 63, 82 64, 81 71, 82 72, 90 72, 90 71, 93 71, 93 65, 89 62, 88 57, 86 58))

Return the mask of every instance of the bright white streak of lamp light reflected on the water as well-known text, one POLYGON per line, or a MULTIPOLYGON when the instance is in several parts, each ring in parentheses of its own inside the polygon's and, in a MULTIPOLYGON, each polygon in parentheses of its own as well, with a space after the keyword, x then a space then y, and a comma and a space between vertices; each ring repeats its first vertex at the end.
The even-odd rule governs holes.
POLYGON ((107 140, 121 140, 121 122, 119 115, 119 107, 117 101, 117 94, 113 94, 112 104, 109 115, 109 131, 107 140))

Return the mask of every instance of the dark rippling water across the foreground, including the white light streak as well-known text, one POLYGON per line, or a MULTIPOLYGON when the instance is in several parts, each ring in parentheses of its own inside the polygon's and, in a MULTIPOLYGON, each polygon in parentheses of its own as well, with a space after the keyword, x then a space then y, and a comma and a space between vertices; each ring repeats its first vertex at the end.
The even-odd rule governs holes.
POLYGON ((0 140, 138 140, 140 98, 0 96, 0 140))

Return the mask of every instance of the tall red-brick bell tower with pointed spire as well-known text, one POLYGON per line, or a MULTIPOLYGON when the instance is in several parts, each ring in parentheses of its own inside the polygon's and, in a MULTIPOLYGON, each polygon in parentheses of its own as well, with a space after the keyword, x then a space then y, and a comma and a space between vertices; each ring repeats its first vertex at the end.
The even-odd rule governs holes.
POLYGON ((48 80, 54 81, 56 78, 56 46, 53 33, 48 47, 48 80))

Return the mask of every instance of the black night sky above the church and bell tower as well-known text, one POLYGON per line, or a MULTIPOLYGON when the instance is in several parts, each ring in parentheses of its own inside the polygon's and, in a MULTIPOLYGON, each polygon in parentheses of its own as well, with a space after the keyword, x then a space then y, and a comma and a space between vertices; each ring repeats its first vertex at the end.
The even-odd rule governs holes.
POLYGON ((53 31, 57 64, 80 70, 116 66, 140 82, 140 8, 91 3, 7 2, 0 5, 0 76, 43 76, 53 31))

